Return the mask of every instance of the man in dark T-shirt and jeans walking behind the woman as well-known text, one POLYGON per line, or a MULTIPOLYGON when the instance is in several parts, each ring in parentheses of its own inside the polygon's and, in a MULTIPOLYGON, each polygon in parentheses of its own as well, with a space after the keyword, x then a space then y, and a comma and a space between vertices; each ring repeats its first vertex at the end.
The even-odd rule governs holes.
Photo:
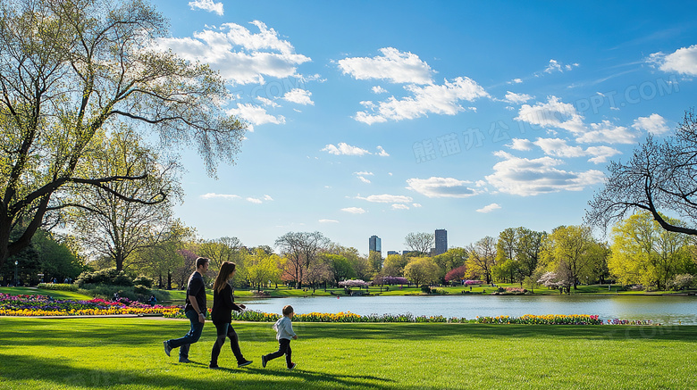
POLYGON ((189 286, 187 286, 187 304, 184 307, 184 314, 191 322, 189 333, 172 340, 166 340, 164 344, 164 353, 167 356, 173 348, 179 348, 179 362, 189 362, 189 345, 198 341, 198 338, 203 332, 204 324, 206 324, 206 284, 204 283, 203 275, 208 270, 208 259, 199 257, 196 259, 196 271, 189 278, 189 286))

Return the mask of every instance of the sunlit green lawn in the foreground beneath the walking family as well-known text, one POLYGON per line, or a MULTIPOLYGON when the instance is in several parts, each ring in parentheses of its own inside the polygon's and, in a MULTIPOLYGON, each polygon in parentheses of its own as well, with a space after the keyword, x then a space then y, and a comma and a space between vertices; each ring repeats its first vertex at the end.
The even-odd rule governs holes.
POLYGON ((689 389, 697 388, 697 327, 294 324, 289 371, 261 367, 277 346, 271 324, 235 323, 207 369, 214 326, 189 364, 163 352, 186 320, 0 318, 0 388, 118 389, 689 389))

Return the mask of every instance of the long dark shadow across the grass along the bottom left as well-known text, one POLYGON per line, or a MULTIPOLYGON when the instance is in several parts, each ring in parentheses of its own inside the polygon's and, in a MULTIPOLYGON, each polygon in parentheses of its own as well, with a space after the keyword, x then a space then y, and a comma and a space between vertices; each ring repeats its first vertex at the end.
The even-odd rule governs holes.
MULTIPOLYGON (((206 369, 206 371, 223 372, 234 378, 230 381, 219 383, 210 378, 197 378, 197 372, 188 378, 175 377, 168 374, 153 374, 147 372, 118 371, 110 369, 84 369, 71 367, 69 362, 51 358, 33 358, 21 355, 0 353, 4 361, 11 364, 5 365, 0 378, 4 382, 36 380, 38 375, 46 384, 54 384, 56 387, 88 387, 107 388, 118 385, 154 386, 191 389, 229 389, 235 388, 287 388, 287 389, 336 389, 345 387, 392 389, 394 386, 380 386, 366 381, 393 382, 391 379, 376 378, 372 376, 332 375, 327 373, 315 373, 303 370, 275 371, 265 369, 208 369, 199 363, 194 369, 206 369), (39 373, 39 374, 38 374, 39 373), (247 374, 264 375, 248 377, 247 374)), ((190 364, 190 363, 189 363, 190 364)), ((222 378, 225 379, 225 378, 222 378)))

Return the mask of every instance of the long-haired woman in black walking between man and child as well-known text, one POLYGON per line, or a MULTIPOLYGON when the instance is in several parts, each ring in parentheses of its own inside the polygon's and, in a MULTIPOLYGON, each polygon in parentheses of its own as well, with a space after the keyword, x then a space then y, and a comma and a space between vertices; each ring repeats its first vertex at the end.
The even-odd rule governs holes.
POLYGON ((218 278, 215 278, 213 284, 213 310, 211 310, 211 319, 217 329, 218 337, 213 344, 211 351, 211 363, 208 365, 211 369, 218 368, 218 355, 225 344, 225 337, 230 338, 230 347, 232 353, 237 359, 237 367, 244 367, 252 363, 242 356, 239 351, 239 340, 235 329, 232 328, 232 311, 242 311, 245 308, 243 304, 235 304, 232 297, 232 287, 228 281, 235 275, 235 263, 225 261, 220 268, 218 278))

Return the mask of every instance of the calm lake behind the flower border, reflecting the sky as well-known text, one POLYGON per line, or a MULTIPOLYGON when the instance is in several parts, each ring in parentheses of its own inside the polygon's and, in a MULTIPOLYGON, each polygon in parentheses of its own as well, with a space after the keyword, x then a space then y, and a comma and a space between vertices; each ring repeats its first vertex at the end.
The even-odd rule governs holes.
POLYGON ((280 313, 290 304, 299 314, 351 311, 359 315, 496 317, 524 314, 592 314, 600 319, 651 319, 664 325, 697 325, 697 297, 651 295, 410 295, 251 298, 249 310, 280 313))

